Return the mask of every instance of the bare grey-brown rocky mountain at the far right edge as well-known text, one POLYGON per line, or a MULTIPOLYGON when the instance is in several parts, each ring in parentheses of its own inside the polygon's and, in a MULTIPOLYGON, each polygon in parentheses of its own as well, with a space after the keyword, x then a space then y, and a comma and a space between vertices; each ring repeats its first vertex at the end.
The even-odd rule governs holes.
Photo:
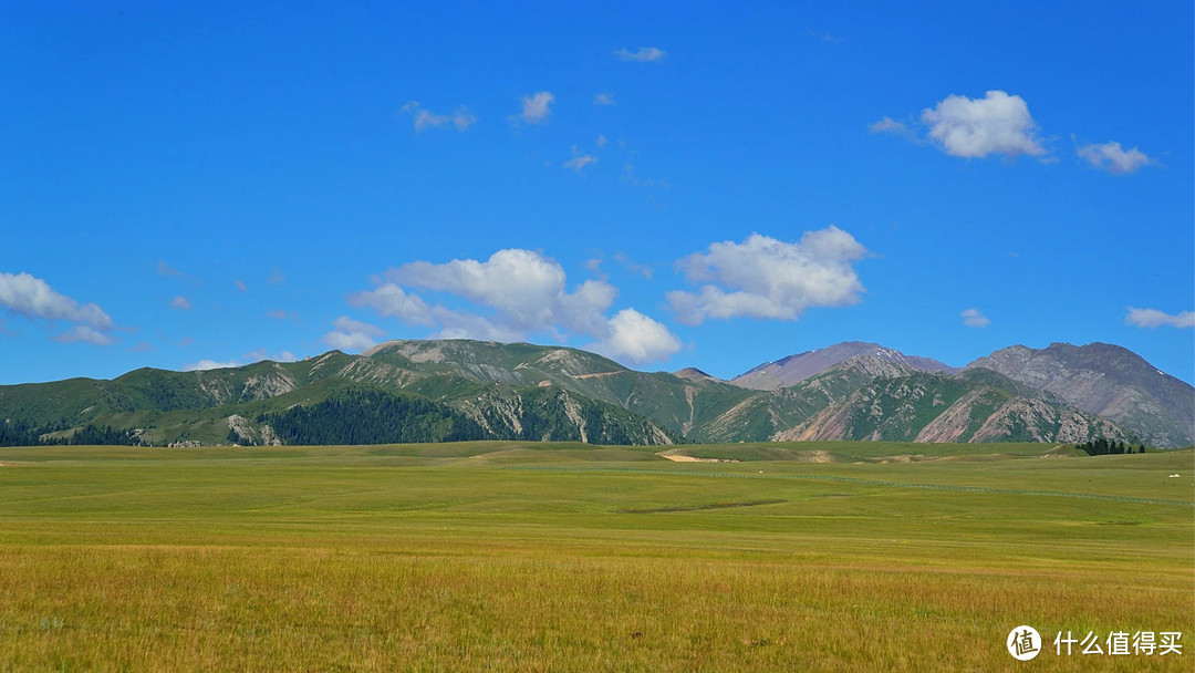
POLYGON ((967 369, 992 369, 1103 416, 1153 446, 1195 441, 1195 388, 1164 374, 1140 355, 1107 343, 1013 345, 967 369))

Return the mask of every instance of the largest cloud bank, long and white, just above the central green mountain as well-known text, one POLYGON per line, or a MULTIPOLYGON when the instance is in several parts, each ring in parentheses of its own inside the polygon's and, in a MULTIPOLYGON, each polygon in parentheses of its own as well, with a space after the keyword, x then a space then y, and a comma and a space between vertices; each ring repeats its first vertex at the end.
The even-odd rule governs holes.
MULTIPOLYGON (((596 269, 599 263, 589 267, 596 269)), ((607 318, 618 294, 614 286, 587 280, 570 288, 563 267, 533 250, 500 250, 485 261, 412 262, 375 282, 375 289, 355 293, 349 302, 436 328, 437 338, 510 342, 537 332, 558 339, 583 335, 598 339, 612 356, 636 362, 666 357, 679 348, 667 328, 633 310, 607 318), (447 293, 476 310, 433 305, 407 288, 447 293)))

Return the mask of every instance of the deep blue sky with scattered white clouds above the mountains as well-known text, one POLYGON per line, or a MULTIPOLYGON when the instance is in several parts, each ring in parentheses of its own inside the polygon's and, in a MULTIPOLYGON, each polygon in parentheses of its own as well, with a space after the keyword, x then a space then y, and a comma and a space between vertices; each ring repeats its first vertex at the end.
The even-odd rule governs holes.
POLYGON ((0 7, 0 384, 433 336, 1195 379, 1190 2, 243 5, 0 7))

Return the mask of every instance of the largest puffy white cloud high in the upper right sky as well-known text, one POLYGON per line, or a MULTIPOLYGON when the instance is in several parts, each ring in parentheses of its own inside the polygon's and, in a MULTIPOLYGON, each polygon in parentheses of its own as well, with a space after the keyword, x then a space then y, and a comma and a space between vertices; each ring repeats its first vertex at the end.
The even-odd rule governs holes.
POLYGON ((1037 124, 1029 115, 1029 105, 1019 96, 1003 91, 988 91, 976 99, 948 96, 933 109, 924 110, 921 122, 930 127, 930 139, 952 157, 1046 154, 1035 136, 1037 124))

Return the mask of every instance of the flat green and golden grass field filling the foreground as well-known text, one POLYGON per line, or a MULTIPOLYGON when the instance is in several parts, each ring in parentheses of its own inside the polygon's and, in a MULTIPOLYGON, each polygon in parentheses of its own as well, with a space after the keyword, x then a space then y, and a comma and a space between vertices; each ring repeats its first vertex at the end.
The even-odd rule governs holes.
POLYGON ((657 449, 0 448, 0 672, 1195 667, 1191 451, 657 449))

